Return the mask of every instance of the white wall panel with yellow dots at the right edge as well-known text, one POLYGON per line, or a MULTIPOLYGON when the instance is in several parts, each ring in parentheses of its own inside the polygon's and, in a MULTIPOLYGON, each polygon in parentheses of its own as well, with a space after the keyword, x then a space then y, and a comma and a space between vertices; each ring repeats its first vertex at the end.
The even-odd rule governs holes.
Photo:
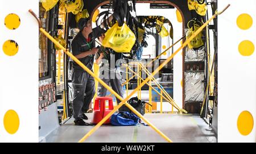
MULTIPOLYGON (((256 55, 242 56, 238 46, 243 40, 256 44, 256 1, 221 0, 218 10, 229 3, 229 9, 218 16, 218 141, 255 142, 255 127, 250 134, 242 135, 237 121, 242 111, 249 111, 254 119, 242 119, 245 123, 240 127, 250 130, 248 123, 255 123, 256 55), (253 19, 247 30, 238 27, 237 18, 241 14, 249 14, 253 19)), ((249 22, 249 19, 242 21, 249 22)))

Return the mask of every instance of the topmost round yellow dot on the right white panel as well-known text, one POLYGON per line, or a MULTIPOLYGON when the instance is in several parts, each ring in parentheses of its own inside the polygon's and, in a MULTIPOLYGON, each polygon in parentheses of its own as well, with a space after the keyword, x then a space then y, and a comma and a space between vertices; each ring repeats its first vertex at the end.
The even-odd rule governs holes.
POLYGON ((237 17, 237 26, 242 30, 248 30, 253 25, 253 18, 249 14, 241 14, 237 17))

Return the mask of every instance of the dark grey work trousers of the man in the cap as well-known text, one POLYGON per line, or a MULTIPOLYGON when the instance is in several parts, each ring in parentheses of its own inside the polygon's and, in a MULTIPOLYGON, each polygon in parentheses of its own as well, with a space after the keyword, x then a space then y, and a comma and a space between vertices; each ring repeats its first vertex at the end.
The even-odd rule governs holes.
POLYGON ((86 113, 92 98, 95 94, 94 78, 87 72, 73 70, 72 85, 73 95, 73 117, 75 120, 81 119, 86 113))

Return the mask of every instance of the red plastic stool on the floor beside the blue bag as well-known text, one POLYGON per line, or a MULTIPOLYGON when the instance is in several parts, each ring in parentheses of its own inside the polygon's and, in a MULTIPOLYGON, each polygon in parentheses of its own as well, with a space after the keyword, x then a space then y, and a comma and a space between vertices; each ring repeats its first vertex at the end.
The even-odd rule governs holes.
MULTIPOLYGON (((113 98, 112 97, 96 97, 93 109, 93 119, 92 123, 99 123, 107 114, 109 114, 113 109, 113 98), (106 109, 105 101, 109 101, 109 109, 106 109)), ((109 124, 110 118, 106 120, 104 124, 109 124)))

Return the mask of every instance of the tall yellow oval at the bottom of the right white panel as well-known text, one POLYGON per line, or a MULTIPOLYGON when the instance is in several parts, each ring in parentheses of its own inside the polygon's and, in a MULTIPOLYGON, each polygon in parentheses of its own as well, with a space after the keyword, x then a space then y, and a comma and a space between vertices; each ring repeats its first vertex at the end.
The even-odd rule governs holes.
POLYGON ((242 135, 249 135, 253 130, 253 116, 249 111, 243 111, 237 119, 237 128, 242 135))

